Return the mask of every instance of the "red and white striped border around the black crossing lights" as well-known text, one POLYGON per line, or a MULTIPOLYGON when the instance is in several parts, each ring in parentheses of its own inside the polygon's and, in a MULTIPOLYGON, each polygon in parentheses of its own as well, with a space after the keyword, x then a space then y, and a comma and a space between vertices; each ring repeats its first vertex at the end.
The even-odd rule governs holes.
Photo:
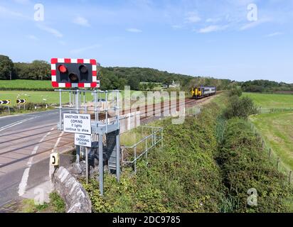
POLYGON ((51 76, 53 87, 100 87, 100 80, 97 80, 97 61, 94 59, 73 59, 73 58, 52 58, 51 59, 51 76), (58 65, 60 64, 80 64, 91 65, 92 79, 90 82, 61 82, 60 77, 58 79, 58 65))

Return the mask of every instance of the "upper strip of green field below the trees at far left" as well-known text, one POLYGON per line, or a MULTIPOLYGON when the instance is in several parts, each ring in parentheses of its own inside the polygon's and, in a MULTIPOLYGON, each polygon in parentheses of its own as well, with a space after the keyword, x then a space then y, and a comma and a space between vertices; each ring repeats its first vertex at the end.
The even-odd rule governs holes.
POLYGON ((40 89, 40 90, 53 90, 50 80, 28 80, 28 79, 15 79, 15 80, 0 80, 0 90, 27 90, 27 89, 40 89))

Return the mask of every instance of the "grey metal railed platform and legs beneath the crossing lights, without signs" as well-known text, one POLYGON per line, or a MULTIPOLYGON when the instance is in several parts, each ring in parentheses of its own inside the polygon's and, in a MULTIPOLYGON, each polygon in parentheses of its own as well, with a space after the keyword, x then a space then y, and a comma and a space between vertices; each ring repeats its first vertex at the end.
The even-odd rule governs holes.
MULTIPOLYGON (((117 180, 120 179, 120 143, 119 143, 119 91, 114 90, 111 92, 100 90, 80 90, 80 89, 55 89, 59 92, 59 123, 58 129, 64 130, 63 114, 90 114, 91 115, 91 131, 93 143, 98 144, 99 149, 99 182, 100 194, 103 194, 104 187, 104 162, 103 162, 103 135, 115 133, 116 140, 115 150, 116 155, 116 176, 117 180), (93 100, 92 106, 87 101, 87 93, 91 93, 93 100), (69 94, 69 104, 63 105, 63 94, 69 94), (109 99, 109 96, 111 96, 109 99), (102 158, 101 158, 102 157, 102 158)), ((80 150, 85 152, 86 162, 86 177, 88 182, 88 148, 76 148, 76 162, 80 162, 80 150)))

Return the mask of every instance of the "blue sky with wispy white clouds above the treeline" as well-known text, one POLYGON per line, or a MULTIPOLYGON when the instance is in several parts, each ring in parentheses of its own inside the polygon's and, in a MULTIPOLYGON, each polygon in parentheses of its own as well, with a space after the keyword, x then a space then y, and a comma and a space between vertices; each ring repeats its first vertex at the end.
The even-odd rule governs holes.
POLYGON ((0 54, 293 83, 292 0, 0 0, 0 54))

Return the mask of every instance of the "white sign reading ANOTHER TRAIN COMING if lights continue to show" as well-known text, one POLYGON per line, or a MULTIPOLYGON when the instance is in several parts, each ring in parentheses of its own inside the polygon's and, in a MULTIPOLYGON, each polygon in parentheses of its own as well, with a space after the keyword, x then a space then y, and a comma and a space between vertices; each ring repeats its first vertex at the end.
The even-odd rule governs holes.
POLYGON ((65 133, 88 134, 92 133, 90 114, 64 114, 65 133))

